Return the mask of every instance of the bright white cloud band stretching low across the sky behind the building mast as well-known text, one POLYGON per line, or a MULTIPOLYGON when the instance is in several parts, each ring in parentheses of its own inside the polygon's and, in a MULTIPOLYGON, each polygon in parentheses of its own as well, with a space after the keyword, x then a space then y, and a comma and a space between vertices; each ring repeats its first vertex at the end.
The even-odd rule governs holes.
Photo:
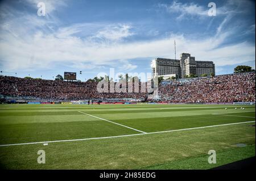
MULTIPOLYGON (((106 46, 104 43, 91 44, 72 35, 63 37, 37 32, 33 36, 20 39, 7 34, 5 40, 0 41, 2 52, 0 58, 3 66, 8 70, 45 69, 56 62, 72 62, 78 67, 90 69, 104 65, 118 66, 123 63, 121 60, 134 58, 159 56, 173 58, 174 54, 170 52, 170 47, 173 47, 173 42, 176 40, 177 52, 189 52, 196 56, 197 60, 212 60, 216 65, 232 65, 254 60, 255 47, 249 43, 218 48, 226 36, 189 40, 181 35, 172 35, 160 40, 121 42, 106 46)), ((131 70, 137 67, 125 62, 120 68, 131 70)))

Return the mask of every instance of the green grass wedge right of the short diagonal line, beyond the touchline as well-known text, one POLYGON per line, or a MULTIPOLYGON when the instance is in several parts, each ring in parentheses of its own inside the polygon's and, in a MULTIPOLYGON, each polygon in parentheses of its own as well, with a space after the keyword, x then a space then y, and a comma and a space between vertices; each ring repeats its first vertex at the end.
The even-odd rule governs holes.
MULTIPOLYGON (((144 132, 168 131, 173 129, 205 127, 209 125, 239 123, 242 121, 255 120, 249 117, 216 116, 211 114, 193 116, 191 113, 188 114, 188 112, 184 112, 183 116, 178 117, 171 113, 159 115, 154 112, 147 113, 147 115, 137 115, 135 113, 133 115, 95 115, 99 117, 104 116, 105 119, 110 119, 116 123, 143 130, 144 132)), ((251 116, 251 114, 246 116, 251 116)))

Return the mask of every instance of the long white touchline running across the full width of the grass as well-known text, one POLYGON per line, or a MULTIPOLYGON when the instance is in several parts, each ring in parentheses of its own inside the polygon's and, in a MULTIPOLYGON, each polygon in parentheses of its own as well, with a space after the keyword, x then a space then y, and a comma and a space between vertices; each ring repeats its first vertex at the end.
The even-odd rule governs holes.
POLYGON ((26 142, 22 144, 7 144, 7 145, 0 145, 1 146, 15 146, 15 145, 32 145, 32 144, 48 144, 51 142, 71 142, 71 141, 84 141, 84 140, 100 140, 100 139, 108 139, 108 138, 118 138, 118 137, 129 137, 129 136, 138 136, 144 134, 156 134, 156 133, 167 133, 167 132, 177 132, 177 131, 187 131, 192 129, 203 129, 203 128, 212 128, 212 127, 221 127, 226 125, 234 125, 234 124, 245 124, 245 123, 254 123, 255 121, 246 121, 240 123, 229 123, 229 124, 218 124, 218 125, 211 125, 206 127, 197 127, 197 128, 185 128, 185 129, 175 129, 170 131, 159 131, 159 132, 150 132, 150 133, 138 133, 138 134, 126 134, 121 136, 108 136, 108 137, 96 137, 96 138, 82 138, 82 139, 75 139, 75 140, 56 140, 56 141, 41 141, 41 142, 26 142))

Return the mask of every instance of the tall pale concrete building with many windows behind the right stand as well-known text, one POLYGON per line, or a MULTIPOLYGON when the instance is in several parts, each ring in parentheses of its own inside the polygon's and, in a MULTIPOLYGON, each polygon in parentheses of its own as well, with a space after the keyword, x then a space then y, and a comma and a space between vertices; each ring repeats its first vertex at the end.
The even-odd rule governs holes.
POLYGON ((212 61, 196 61, 189 53, 181 53, 180 60, 170 58, 155 58, 151 61, 152 77, 158 75, 176 74, 178 78, 185 78, 186 75, 203 74, 215 75, 215 65, 212 61))

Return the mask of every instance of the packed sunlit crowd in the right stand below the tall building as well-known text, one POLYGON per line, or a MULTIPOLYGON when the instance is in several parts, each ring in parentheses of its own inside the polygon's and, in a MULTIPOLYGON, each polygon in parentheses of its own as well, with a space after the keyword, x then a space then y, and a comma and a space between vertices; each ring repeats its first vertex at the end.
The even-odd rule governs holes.
POLYGON ((255 102, 255 72, 164 81, 159 96, 172 103, 255 102))

